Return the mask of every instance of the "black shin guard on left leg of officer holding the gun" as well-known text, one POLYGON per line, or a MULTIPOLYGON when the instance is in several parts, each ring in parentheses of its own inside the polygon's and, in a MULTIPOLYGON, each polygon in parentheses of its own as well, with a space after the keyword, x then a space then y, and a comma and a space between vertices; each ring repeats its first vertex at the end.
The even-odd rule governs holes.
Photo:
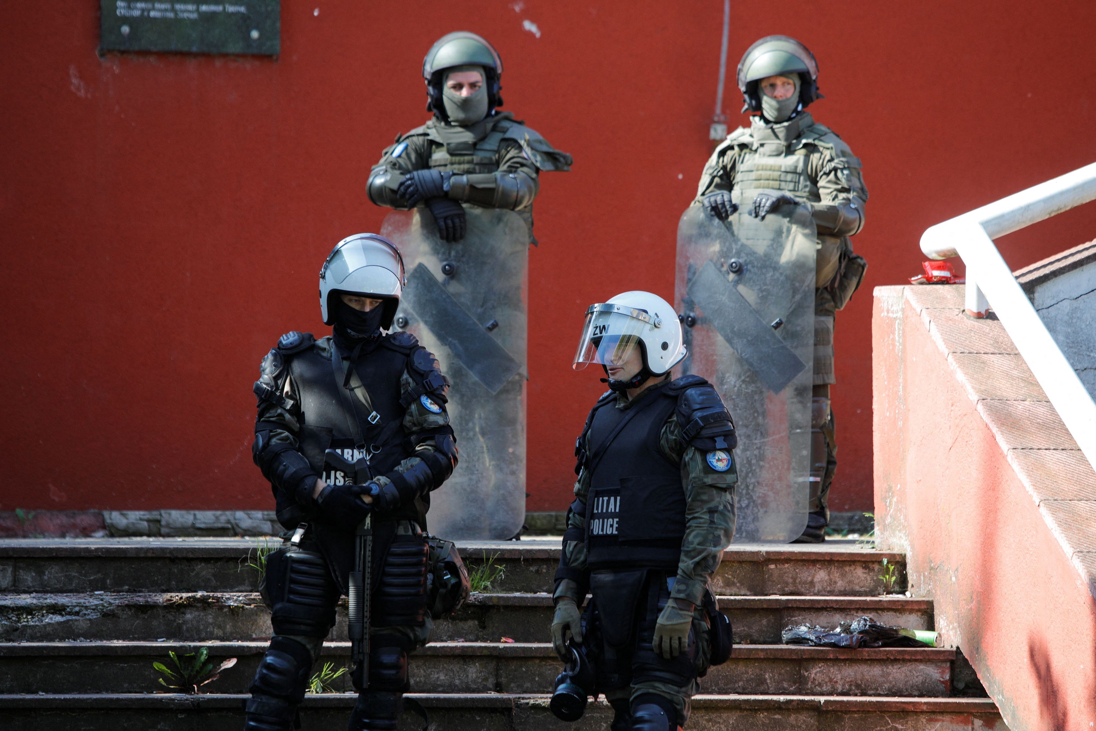
POLYGON ((243 705, 248 715, 246 731, 292 729, 311 669, 312 658, 300 642, 283 637, 271 640, 248 688, 252 697, 243 705))

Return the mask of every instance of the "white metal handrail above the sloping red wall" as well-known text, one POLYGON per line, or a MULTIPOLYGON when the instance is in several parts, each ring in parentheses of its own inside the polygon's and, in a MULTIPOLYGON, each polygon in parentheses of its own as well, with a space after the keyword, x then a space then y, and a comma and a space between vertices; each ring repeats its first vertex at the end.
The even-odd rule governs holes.
POLYGON ((937 224, 921 236, 929 259, 967 265, 967 311, 994 312, 1096 469, 1096 403, 1013 276, 993 239, 1096 199, 1096 163, 937 224))

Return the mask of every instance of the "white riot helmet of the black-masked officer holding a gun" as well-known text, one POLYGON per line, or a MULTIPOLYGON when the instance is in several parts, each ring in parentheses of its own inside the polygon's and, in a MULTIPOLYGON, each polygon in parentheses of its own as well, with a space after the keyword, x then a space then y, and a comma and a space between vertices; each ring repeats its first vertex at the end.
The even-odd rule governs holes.
POLYGON ((324 324, 335 321, 339 293, 384 299, 380 327, 388 330, 400 305, 407 277, 403 258, 391 241, 376 233, 355 233, 335 244, 320 270, 320 312, 324 324))

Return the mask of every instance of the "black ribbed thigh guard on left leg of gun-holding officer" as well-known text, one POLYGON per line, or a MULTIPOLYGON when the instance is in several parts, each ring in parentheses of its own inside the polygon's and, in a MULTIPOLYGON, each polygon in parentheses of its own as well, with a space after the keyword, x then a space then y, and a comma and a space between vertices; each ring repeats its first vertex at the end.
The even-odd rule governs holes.
POLYGON ((313 551, 275 551, 267 559, 267 586, 275 635, 326 637, 335 624, 339 587, 323 556, 313 551))

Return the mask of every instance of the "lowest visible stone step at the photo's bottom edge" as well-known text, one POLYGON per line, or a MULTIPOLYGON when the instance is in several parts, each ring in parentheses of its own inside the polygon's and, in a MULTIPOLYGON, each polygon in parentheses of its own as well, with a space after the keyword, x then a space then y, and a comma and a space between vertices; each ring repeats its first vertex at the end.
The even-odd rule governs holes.
MULTIPOLYGON (((238 731, 242 695, 7 695, 0 716, 8 728, 34 731, 238 731)), ((547 695, 409 695, 445 731, 606 731, 612 710, 587 706, 564 727, 548 711, 547 695)), ((306 696, 302 731, 342 728, 355 696, 306 696)), ((422 728, 406 712, 400 729, 422 728)), ((689 731, 1007 731, 996 706, 984 698, 871 698, 857 696, 731 696, 693 699, 689 731)))

